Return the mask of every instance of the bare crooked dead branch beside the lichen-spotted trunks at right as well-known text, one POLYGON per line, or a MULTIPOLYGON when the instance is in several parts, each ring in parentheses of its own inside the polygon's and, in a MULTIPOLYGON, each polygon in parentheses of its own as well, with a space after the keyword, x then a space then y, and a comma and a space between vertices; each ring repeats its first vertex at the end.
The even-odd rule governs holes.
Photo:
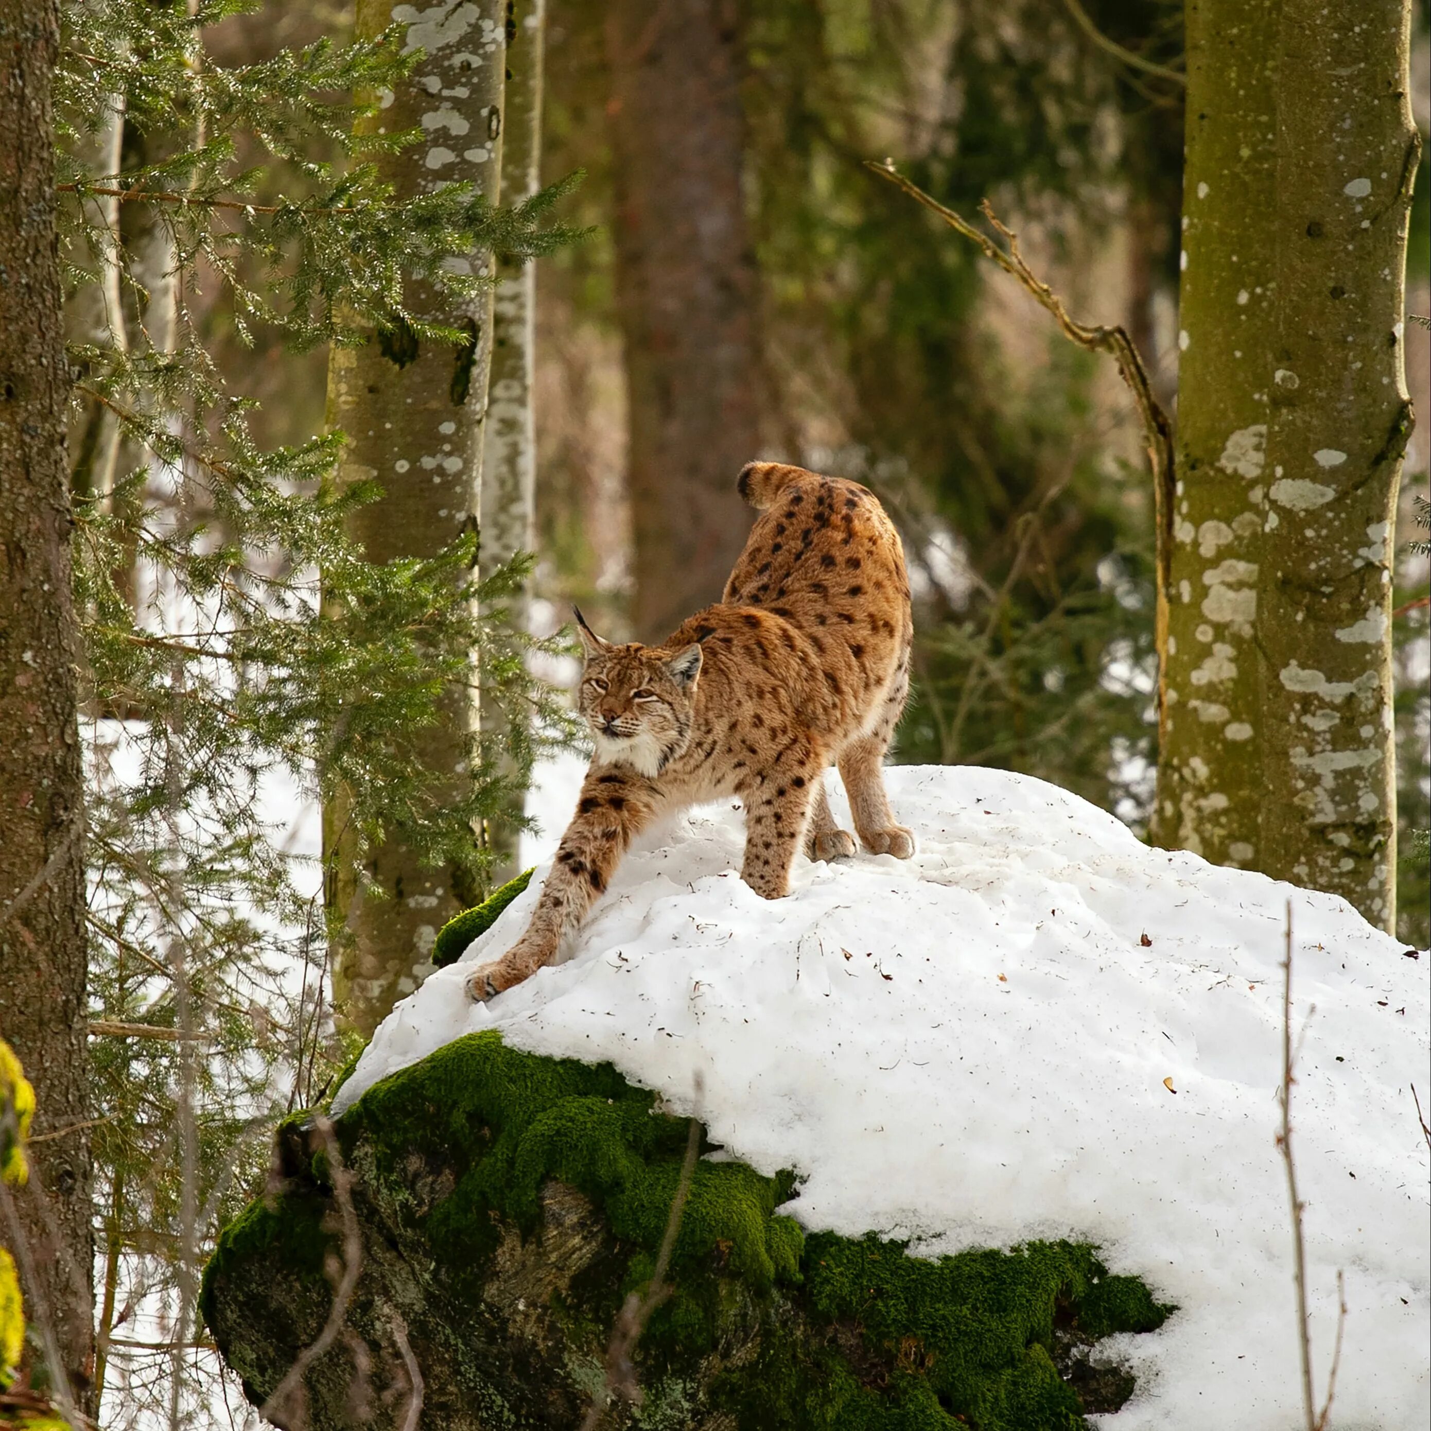
MULTIPOLYGON (((903 189, 912 199, 922 203, 932 213, 937 213, 956 233, 962 233, 970 242, 979 245, 983 255, 997 263, 1010 278, 1016 279, 1023 289, 1053 316, 1059 331, 1070 342, 1088 352, 1108 353, 1116 363, 1125 385, 1138 409, 1138 418, 1143 428, 1143 442, 1148 448, 1148 462, 1153 478, 1153 525, 1155 525, 1155 640, 1158 651, 1168 645, 1168 582, 1172 564, 1172 522, 1173 522, 1173 482, 1175 455, 1172 439, 1172 419, 1162 404, 1153 395, 1152 382, 1148 378, 1148 368, 1138 345, 1132 341, 1128 329, 1122 323, 1112 326, 1103 323, 1079 323, 1069 316, 1063 306, 1063 299, 1049 288, 1029 268, 1019 252, 1019 236, 1005 225, 993 212, 992 205, 985 199, 979 205, 979 212, 989 220, 997 235, 1005 240, 1006 248, 1000 248, 987 233, 980 232, 962 215, 946 207, 933 195, 924 193, 919 185, 906 179, 896 167, 894 162, 886 159, 876 163, 866 160, 866 167, 887 179, 892 185, 903 189)), ((1158 726, 1163 730, 1166 714, 1166 678, 1159 663, 1158 673, 1158 726)))

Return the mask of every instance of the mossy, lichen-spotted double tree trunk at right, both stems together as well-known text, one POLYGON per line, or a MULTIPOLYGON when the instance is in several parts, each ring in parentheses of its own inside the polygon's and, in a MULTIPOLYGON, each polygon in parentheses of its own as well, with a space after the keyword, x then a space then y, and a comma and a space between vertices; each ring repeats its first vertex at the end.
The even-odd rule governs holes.
POLYGON ((1192 0, 1155 837, 1394 914, 1410 7, 1192 0))

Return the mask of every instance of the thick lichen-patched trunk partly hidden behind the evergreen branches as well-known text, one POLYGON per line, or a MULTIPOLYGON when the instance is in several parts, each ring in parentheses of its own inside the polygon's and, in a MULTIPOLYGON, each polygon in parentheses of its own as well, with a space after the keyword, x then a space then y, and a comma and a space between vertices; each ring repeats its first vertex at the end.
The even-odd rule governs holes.
MULTIPOLYGON (((359 36, 392 21, 391 0, 358 0, 359 36)), ((404 7, 404 16, 409 10, 404 7)), ((408 49, 425 56, 402 92, 371 123, 382 130, 421 126, 421 143, 379 160, 399 195, 467 180, 494 203, 502 156, 505 17, 502 0, 462 6, 446 19, 436 11, 408 23, 408 49)), ((474 253, 472 272, 488 272, 489 253, 474 253)), ((492 348, 491 290, 458 302, 426 285, 409 283, 409 309, 462 328, 468 343, 418 342, 409 331, 373 333, 361 348, 335 348, 328 373, 328 421, 348 436, 341 475, 376 479, 384 497, 358 511, 352 532, 372 561, 434 555, 477 524, 492 348)), ((454 690, 441 721, 419 733, 432 771, 454 788, 471 777, 468 741, 477 730, 477 697, 454 690)), ((371 851, 366 870, 378 893, 352 879, 351 836, 342 801, 323 811, 329 900, 351 940, 339 950, 333 993, 342 1017, 371 1033, 392 1005, 431 970, 438 929, 472 903, 461 887, 471 873, 422 864, 401 830, 371 851)))

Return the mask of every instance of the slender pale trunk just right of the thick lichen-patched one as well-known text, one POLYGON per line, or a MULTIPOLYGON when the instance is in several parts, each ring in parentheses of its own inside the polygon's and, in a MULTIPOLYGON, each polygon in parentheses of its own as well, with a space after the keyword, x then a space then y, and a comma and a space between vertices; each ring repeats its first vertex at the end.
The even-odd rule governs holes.
MULTIPOLYGON (((502 199, 518 203, 541 187, 542 46, 547 0, 517 0, 508 21, 502 199)), ((519 551, 531 551, 537 494, 537 419, 532 406, 537 353, 537 268, 497 260, 491 398, 482 449, 482 551, 485 578, 519 551)), ((512 625, 527 627, 528 591, 509 602, 512 625)), ((507 727, 501 701, 482 697, 482 734, 498 740, 507 727)), ((507 770, 511 776, 514 771, 507 770)), ((488 886, 505 884, 517 870, 522 794, 487 824, 492 869, 488 886)))

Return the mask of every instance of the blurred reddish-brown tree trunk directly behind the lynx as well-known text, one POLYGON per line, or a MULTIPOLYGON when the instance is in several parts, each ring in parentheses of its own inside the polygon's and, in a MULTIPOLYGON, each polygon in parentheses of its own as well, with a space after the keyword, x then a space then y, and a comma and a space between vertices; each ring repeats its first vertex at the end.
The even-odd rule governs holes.
POLYGON ((750 529, 736 475, 758 455, 760 353, 736 17, 730 0, 607 11, 641 640, 720 600, 750 529))

